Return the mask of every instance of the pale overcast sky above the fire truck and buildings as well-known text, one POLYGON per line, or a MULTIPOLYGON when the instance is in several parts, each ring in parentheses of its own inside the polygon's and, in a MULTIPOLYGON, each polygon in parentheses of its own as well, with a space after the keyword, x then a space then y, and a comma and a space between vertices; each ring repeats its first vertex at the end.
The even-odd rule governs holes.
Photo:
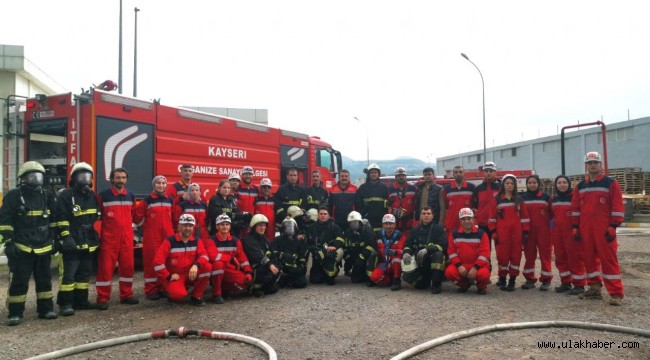
MULTIPOLYGON (((650 116, 648 1, 123 0, 123 92, 266 108, 344 155, 424 161, 650 116), (354 120, 358 117, 361 123, 354 120), (366 130, 367 129, 367 130, 366 130), (367 132, 366 132, 367 131, 367 132)), ((118 78, 119 0, 2 1, 0 43, 78 93, 118 78)))

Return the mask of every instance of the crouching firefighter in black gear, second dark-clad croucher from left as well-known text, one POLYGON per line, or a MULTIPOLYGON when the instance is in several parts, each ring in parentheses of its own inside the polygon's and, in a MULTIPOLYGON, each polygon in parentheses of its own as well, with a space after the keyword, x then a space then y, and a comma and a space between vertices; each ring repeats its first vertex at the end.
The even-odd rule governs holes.
POLYGON ((307 286, 307 257, 309 251, 304 238, 298 238, 296 220, 287 217, 280 227, 282 233, 271 243, 273 257, 280 265, 279 287, 296 289, 307 286))

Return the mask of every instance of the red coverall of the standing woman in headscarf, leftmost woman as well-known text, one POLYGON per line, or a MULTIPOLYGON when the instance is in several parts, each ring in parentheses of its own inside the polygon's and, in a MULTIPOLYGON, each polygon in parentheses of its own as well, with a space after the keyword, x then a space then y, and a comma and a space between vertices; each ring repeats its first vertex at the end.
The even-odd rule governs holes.
POLYGON ((144 272, 144 293, 153 295, 164 291, 153 270, 153 259, 160 244, 174 235, 172 227, 172 204, 169 195, 159 196, 152 192, 140 201, 133 211, 133 222, 142 226, 142 267, 144 272))

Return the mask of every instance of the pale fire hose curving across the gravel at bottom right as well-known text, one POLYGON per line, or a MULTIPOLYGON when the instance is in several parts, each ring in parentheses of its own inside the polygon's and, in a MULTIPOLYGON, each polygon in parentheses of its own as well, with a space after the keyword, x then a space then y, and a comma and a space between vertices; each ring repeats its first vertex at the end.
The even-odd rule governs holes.
POLYGON ((589 322, 582 322, 582 321, 533 321, 533 322, 494 324, 494 325, 487 325, 478 328, 473 328, 469 330, 463 330, 463 331, 455 332, 453 334, 435 338, 423 344, 414 346, 406 351, 403 351, 397 354, 396 356, 394 356, 393 358, 391 358, 391 360, 408 359, 411 356, 417 355, 423 351, 429 350, 438 345, 446 344, 454 340, 464 339, 476 335, 487 334, 494 331, 540 329, 540 328, 550 328, 550 327, 610 331, 610 332, 617 332, 622 334, 630 334, 630 335, 637 335, 637 336, 650 338, 650 330, 625 327, 625 326, 617 326, 617 325, 609 325, 609 324, 589 323, 589 322))

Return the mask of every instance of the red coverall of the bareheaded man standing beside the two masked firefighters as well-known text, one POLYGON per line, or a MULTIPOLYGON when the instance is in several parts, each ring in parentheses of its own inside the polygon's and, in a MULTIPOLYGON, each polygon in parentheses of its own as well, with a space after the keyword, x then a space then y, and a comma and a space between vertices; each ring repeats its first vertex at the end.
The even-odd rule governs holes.
POLYGON ((102 233, 97 255, 97 302, 111 298, 111 280, 115 263, 120 276, 120 299, 133 296, 133 220, 135 196, 126 188, 121 192, 110 187, 97 195, 102 213, 102 233))

